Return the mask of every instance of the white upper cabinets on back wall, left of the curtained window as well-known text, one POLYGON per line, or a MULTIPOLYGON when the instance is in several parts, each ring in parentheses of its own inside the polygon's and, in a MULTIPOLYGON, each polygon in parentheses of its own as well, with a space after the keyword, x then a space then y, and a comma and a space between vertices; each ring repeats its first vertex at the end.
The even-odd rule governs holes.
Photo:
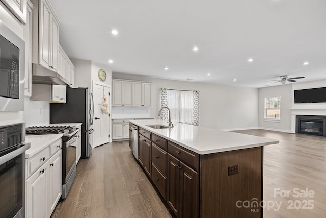
POLYGON ((151 107, 151 84, 112 80, 112 106, 151 107))

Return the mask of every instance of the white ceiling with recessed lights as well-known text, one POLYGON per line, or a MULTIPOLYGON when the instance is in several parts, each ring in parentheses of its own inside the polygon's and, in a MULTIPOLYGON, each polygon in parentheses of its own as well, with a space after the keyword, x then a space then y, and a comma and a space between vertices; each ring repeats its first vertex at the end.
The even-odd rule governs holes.
POLYGON ((50 2, 68 56, 114 72, 245 87, 326 79, 325 0, 50 2))

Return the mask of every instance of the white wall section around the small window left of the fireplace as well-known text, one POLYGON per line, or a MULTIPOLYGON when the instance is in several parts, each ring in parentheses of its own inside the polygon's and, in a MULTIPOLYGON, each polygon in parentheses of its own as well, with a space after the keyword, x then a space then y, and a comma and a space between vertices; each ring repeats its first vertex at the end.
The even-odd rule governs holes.
POLYGON ((291 131, 292 84, 259 88, 258 124, 261 129, 291 131), (281 96, 281 122, 264 120, 264 101, 266 97, 281 96))

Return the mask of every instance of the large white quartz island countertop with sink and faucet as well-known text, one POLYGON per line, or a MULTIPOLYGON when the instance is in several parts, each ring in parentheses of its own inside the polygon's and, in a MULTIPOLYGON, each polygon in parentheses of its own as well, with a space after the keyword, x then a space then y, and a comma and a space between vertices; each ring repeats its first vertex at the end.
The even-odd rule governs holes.
POLYGON ((130 122, 201 155, 279 143, 279 140, 276 139, 188 124, 175 123, 173 124, 174 128, 168 129, 153 129, 146 126, 155 124, 168 126, 167 122, 161 119, 130 120, 130 122))

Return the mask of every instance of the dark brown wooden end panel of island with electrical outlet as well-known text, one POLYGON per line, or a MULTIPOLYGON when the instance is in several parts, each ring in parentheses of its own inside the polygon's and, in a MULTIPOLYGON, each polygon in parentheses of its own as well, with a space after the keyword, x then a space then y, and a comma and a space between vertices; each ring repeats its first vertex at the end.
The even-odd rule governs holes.
POLYGON ((201 155, 200 217, 262 217, 260 207, 237 207, 262 200, 262 157, 263 147, 201 155), (229 176, 234 165, 238 173, 229 176))

